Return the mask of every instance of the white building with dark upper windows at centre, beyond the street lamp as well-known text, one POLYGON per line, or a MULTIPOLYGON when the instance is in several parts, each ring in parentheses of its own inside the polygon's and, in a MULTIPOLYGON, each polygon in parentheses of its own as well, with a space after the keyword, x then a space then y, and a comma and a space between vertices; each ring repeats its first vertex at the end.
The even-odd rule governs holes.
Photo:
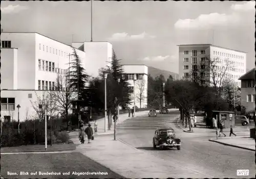
POLYGON ((148 67, 146 65, 123 65, 123 68, 125 79, 130 83, 129 88, 133 99, 130 107, 134 106, 135 98, 135 105, 138 108, 146 108, 148 67))

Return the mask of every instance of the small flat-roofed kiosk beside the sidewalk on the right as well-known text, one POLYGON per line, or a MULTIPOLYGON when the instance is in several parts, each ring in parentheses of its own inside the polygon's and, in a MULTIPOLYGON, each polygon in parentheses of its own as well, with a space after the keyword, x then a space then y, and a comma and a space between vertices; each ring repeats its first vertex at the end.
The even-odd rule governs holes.
POLYGON ((221 122, 222 126, 225 128, 229 128, 230 125, 234 126, 234 112, 231 111, 212 111, 212 117, 215 117, 219 122, 221 122))

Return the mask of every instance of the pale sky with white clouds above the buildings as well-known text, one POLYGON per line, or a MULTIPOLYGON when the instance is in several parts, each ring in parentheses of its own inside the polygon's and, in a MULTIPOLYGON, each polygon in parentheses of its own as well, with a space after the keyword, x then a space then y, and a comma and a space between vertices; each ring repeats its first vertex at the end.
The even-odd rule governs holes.
MULTIPOLYGON (((2 1, 1 16, 6 32, 91 40, 91 2, 2 1)), ((112 43, 122 64, 178 73, 177 45, 210 43, 247 52, 254 66, 255 1, 93 1, 92 19, 93 41, 112 43)))

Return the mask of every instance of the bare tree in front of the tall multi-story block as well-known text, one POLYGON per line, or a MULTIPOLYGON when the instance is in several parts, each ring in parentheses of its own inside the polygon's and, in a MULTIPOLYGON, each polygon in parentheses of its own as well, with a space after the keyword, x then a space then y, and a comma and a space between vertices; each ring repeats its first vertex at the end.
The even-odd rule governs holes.
POLYGON ((201 58, 200 64, 192 65, 190 77, 191 79, 200 84, 206 84, 213 86, 215 91, 221 95, 220 88, 222 86, 223 80, 225 78, 231 78, 229 71, 234 71, 233 61, 230 61, 228 58, 219 59, 219 58, 201 58))

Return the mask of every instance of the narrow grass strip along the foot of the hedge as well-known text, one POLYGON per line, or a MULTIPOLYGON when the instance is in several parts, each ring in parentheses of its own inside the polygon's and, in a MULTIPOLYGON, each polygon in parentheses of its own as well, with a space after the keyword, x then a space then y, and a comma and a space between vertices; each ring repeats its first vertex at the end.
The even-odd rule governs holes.
MULTIPOLYGON (((76 146, 73 142, 65 143, 54 143, 47 145, 47 151, 66 151, 75 150, 76 146)), ((32 151, 46 151, 45 145, 22 145, 15 147, 1 147, 1 152, 32 152, 32 151)))

